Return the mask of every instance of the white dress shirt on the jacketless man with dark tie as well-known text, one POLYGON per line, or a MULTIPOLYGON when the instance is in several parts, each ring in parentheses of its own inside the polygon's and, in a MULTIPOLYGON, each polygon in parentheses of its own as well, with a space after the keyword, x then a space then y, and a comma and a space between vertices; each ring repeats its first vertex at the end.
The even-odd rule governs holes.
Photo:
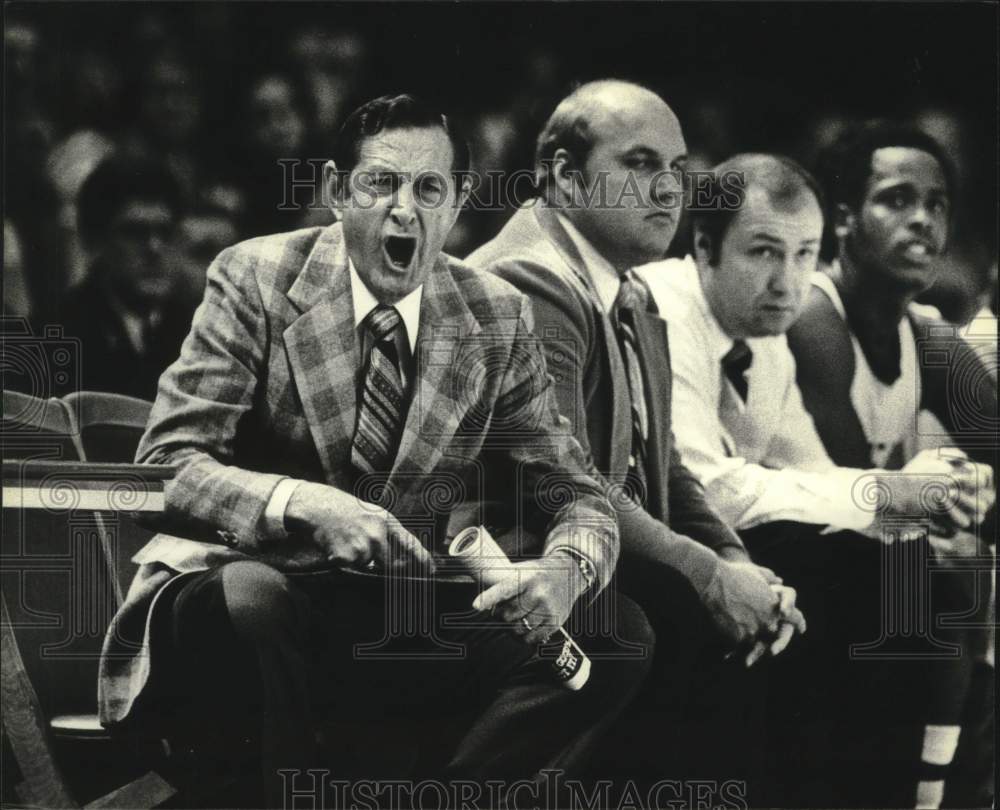
POLYGON ((744 403, 721 364, 733 338, 712 314, 694 260, 638 272, 668 323, 677 447, 722 519, 736 529, 778 520, 867 529, 873 508, 853 496, 866 471, 837 467, 827 455, 785 336, 747 339, 753 363, 744 403))

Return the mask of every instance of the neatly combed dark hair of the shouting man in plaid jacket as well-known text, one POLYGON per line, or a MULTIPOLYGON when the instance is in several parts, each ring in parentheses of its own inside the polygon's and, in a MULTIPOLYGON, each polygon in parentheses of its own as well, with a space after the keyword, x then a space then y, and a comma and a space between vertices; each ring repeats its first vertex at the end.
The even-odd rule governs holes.
POLYGON ((456 125, 444 113, 423 100, 403 93, 379 96, 352 112, 337 133, 333 144, 333 162, 344 176, 358 165, 361 141, 387 129, 439 127, 451 141, 452 173, 463 175, 469 170, 469 144, 456 125))

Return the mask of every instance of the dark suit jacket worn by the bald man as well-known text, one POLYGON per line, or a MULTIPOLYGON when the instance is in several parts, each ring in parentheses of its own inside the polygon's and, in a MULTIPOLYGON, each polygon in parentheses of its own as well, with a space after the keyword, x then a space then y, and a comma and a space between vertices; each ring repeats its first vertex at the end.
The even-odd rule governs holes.
MULTIPOLYGON (((531 298, 535 331, 545 347, 560 409, 601 475, 623 480, 632 435, 624 361, 614 327, 555 211, 540 202, 523 207, 467 261, 531 298)), ((637 317, 636 333, 650 392, 649 491, 645 509, 612 498, 623 562, 630 548, 661 547, 663 559, 700 593, 714 575, 719 555, 745 558, 746 551, 707 504, 702 485, 683 465, 674 444, 666 322, 645 313, 637 317)))

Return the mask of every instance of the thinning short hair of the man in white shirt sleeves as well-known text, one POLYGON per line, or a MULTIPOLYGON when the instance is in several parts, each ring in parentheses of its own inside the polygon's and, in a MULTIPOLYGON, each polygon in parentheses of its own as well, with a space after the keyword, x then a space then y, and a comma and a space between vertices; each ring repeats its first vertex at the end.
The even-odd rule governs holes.
POLYGON ((812 194, 820 210, 825 210, 819 183, 797 161, 759 152, 733 155, 712 169, 706 187, 694 190, 696 196, 690 209, 692 224, 711 242, 712 264, 718 261, 726 231, 752 187, 763 188, 777 208, 792 205, 803 194, 812 194))

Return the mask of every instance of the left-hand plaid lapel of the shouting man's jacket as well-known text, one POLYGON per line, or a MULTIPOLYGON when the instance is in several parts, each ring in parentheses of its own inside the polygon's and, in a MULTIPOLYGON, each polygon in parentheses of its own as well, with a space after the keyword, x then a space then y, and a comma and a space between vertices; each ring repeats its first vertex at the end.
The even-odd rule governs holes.
POLYGON ((284 332, 302 410, 327 479, 349 488, 345 460, 356 419, 357 339, 347 250, 338 226, 316 241, 288 299, 302 313, 284 332))

